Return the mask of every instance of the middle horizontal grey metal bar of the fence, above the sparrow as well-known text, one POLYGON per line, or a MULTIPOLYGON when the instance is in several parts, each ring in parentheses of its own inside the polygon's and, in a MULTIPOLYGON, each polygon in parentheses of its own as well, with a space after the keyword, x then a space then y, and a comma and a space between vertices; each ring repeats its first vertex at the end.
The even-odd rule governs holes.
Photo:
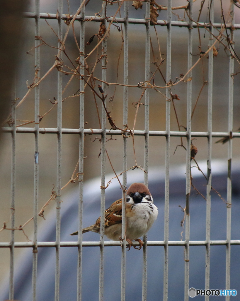
MULTIPOLYGON (((13 131, 12 128, 7 128, 4 127, 2 128, 2 132, 4 133, 11 133, 13 131)), ((17 133, 35 133, 35 128, 16 128, 17 133)), ((58 129, 57 128, 39 128, 39 133, 40 134, 58 134, 58 129)), ((80 134, 81 131, 80 129, 62 129, 61 131, 62 134, 80 134)), ((166 131, 149 131, 149 136, 165 136, 167 135, 166 131)), ((102 130, 101 129, 84 129, 84 134, 86 135, 101 135, 102 130)), ((106 135, 122 135, 121 130, 106 130, 106 135)), ((146 135, 145 131, 134 131, 134 135, 136 136, 144 136, 146 135)), ((175 132, 171 131, 170 136, 172 137, 186 137, 187 132, 175 132)), ((193 137, 208 137, 209 134, 208 132, 191 132, 191 136, 193 137)), ((228 132, 212 132, 211 137, 216 137, 216 138, 223 138, 223 137, 228 137, 229 133, 228 132)), ((240 137, 239 132, 232 132, 232 137, 240 137)))

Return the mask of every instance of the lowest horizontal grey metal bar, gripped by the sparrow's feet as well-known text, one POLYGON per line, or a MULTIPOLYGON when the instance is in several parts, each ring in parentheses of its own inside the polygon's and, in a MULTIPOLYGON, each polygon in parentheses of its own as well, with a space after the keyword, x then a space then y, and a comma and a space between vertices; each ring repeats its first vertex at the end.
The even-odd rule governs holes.
MULTIPOLYGON (((190 240, 189 245, 190 246, 206 246, 208 242, 206 240, 190 240)), ((227 245, 227 240, 211 240, 210 245, 211 246, 224 246, 227 245)), ((240 240, 231 240, 231 245, 240 245, 240 240)), ((139 242, 134 241, 134 246, 139 246, 139 242)), ((148 246, 165 246, 164 241, 148 241, 148 246)), ((176 240, 176 241, 169 241, 169 246, 185 246, 186 241, 176 240)), ((33 242, 15 242, 14 247, 15 248, 26 248, 26 247, 33 247, 33 242)), ((57 244, 55 241, 51 242, 38 242, 38 247, 56 247, 57 244)), ((60 247, 78 247, 79 244, 77 241, 61 241, 60 247)), ((100 241, 83 241, 82 242, 83 247, 100 247, 100 241)), ((119 247, 121 246, 120 241, 104 241, 104 247, 119 247)), ((126 246, 128 246, 128 242, 126 242, 126 246)), ((0 248, 10 248, 11 243, 10 242, 0 242, 0 248)))

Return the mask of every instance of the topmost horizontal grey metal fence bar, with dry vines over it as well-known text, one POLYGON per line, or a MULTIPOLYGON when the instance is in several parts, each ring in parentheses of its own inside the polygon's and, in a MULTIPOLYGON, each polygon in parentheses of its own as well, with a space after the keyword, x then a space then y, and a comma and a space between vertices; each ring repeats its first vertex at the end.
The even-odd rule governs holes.
MULTIPOLYGON (((36 14, 35 13, 23 13, 23 16, 26 18, 36 18, 36 14)), ((62 19, 63 20, 71 20, 72 17, 69 17, 69 15, 67 14, 63 14, 62 15, 62 19)), ((48 13, 41 13, 40 14, 40 19, 57 19, 56 14, 48 14, 48 13)), ((77 16, 76 21, 80 21, 82 20, 81 16, 77 16)), ((84 18, 85 21, 91 21, 91 22, 100 22, 103 20, 103 18, 101 16, 85 16, 84 18)), ((107 19, 107 22, 111 22, 113 20, 113 17, 110 17, 107 19)), ((125 18, 114 18, 114 23, 125 23, 125 18)), ((130 24, 146 24, 146 20, 145 19, 134 19, 134 18, 129 18, 128 19, 128 23, 130 24)), ((179 27, 189 27, 189 23, 188 22, 184 22, 184 21, 172 21, 171 22, 172 26, 179 26, 179 27)), ((161 25, 161 26, 167 26, 168 23, 165 20, 158 20, 157 21, 157 25, 161 25)), ((221 23, 213 23, 213 26, 216 28, 221 28, 222 24, 221 23)), ((211 27, 211 24, 205 24, 205 23, 200 23, 199 25, 196 24, 195 22, 193 22, 193 27, 211 27)), ((226 28, 231 28, 232 25, 231 24, 226 24, 226 28)), ((235 24, 234 25, 235 29, 240 29, 240 24, 235 24)))

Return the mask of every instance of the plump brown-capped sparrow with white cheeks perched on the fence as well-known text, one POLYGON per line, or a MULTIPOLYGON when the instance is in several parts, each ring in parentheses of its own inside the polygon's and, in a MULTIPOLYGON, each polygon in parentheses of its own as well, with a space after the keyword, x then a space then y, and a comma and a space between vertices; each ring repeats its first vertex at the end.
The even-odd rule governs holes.
MULTIPOLYGON (((138 241, 140 250, 143 241, 139 237, 145 235, 158 216, 158 208, 153 204, 152 195, 143 183, 133 183, 127 190, 126 197, 126 241, 130 250, 132 241, 138 241)), ((122 240, 122 199, 116 200, 105 210, 105 235, 114 241, 122 240)), ((82 229, 85 232, 100 233, 100 217, 94 225, 82 229)), ((78 231, 70 235, 77 235, 78 231)))

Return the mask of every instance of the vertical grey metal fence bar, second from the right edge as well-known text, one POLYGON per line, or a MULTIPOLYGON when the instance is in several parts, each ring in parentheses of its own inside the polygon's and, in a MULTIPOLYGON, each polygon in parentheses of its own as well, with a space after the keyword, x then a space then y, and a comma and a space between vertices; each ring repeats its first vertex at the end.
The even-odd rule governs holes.
MULTIPOLYGON (((209 12, 211 23, 214 22, 214 0, 211 2, 211 10, 209 12)), ((208 45, 211 47, 213 43, 213 26, 209 33, 208 45)), ((211 221, 211 156, 212 156, 212 88, 213 88, 213 50, 211 49, 208 57, 208 182, 206 195, 206 268, 205 268, 205 290, 209 290, 210 282, 210 221, 211 221)), ((205 300, 209 300, 209 296, 205 296, 205 300)))

